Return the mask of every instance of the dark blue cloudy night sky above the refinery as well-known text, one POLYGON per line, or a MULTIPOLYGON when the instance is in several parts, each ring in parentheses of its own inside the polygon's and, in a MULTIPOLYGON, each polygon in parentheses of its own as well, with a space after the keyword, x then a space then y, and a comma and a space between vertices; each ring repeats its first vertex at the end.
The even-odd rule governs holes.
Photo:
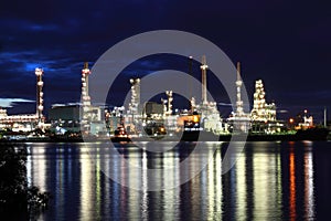
MULTIPOLYGON (((44 69, 45 108, 78 102, 85 61, 93 65, 131 35, 169 29, 199 34, 233 63, 241 61, 249 98, 255 80, 261 78, 267 101, 276 103, 280 118, 284 110, 296 115, 307 108, 321 119, 324 106, 331 112, 330 11, 327 0, 2 1, 0 106, 12 106, 10 114, 34 113, 36 66, 44 69)), ((146 59, 124 74, 188 67, 185 60, 173 61, 146 59)))

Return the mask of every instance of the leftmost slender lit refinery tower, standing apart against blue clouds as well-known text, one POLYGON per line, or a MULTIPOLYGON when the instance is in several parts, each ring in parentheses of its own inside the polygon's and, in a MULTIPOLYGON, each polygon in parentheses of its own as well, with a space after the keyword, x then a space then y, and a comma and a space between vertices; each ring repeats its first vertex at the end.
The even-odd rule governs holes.
POLYGON ((35 69, 35 76, 36 76, 36 116, 38 116, 38 126, 41 127, 42 124, 44 123, 43 119, 43 70, 40 67, 35 69))

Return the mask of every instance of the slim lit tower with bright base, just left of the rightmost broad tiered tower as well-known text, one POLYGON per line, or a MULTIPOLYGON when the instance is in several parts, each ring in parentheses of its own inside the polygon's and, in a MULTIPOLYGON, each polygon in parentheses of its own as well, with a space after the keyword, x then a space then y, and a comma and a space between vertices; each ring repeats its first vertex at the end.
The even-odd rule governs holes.
POLYGON ((249 114, 244 113, 244 102, 242 101, 242 86, 243 80, 241 76, 241 63, 237 62, 237 101, 236 101, 236 110, 228 118, 229 124, 235 131, 247 133, 250 128, 250 116, 249 114))

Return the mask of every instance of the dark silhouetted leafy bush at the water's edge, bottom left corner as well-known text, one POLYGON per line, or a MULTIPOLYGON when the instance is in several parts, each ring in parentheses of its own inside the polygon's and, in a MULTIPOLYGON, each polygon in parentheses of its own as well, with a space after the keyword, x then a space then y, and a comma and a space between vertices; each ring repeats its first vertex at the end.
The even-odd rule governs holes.
POLYGON ((29 187, 26 148, 13 144, 0 145, 0 215, 11 220, 28 220, 49 204, 50 193, 29 187))

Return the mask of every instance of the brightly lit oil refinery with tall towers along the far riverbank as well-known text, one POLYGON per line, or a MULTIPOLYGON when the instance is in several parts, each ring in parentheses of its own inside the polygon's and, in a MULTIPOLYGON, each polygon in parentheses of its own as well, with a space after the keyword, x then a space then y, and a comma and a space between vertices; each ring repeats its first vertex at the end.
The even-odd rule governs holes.
MULTIPOLYGON (((190 57, 192 60, 192 57, 190 57)), ((173 108, 173 92, 164 92, 159 103, 140 102, 140 78, 130 78, 130 103, 127 107, 95 106, 88 92, 88 77, 92 74, 88 63, 82 70, 82 95, 76 104, 54 104, 49 109, 49 118, 43 115, 43 70, 35 69, 36 75, 36 112, 29 115, 8 116, 6 109, 0 109, 0 129, 24 133, 31 137, 175 137, 194 133, 211 133, 215 136, 226 136, 233 133, 249 133, 249 135, 291 134, 295 129, 313 128, 313 118, 305 110, 303 120, 293 125, 276 118, 276 104, 267 103, 261 80, 255 82, 253 108, 245 113, 242 101, 243 80, 241 63, 236 70, 236 104, 227 118, 222 118, 215 102, 207 101, 207 63, 202 56, 201 62, 201 102, 199 97, 190 97, 188 109, 173 108), (40 130, 41 133, 35 133, 40 130), (49 131, 45 135, 43 131, 49 131)), ((325 113, 324 113, 325 114, 325 113)), ((325 126, 325 125, 324 125, 325 126)))

